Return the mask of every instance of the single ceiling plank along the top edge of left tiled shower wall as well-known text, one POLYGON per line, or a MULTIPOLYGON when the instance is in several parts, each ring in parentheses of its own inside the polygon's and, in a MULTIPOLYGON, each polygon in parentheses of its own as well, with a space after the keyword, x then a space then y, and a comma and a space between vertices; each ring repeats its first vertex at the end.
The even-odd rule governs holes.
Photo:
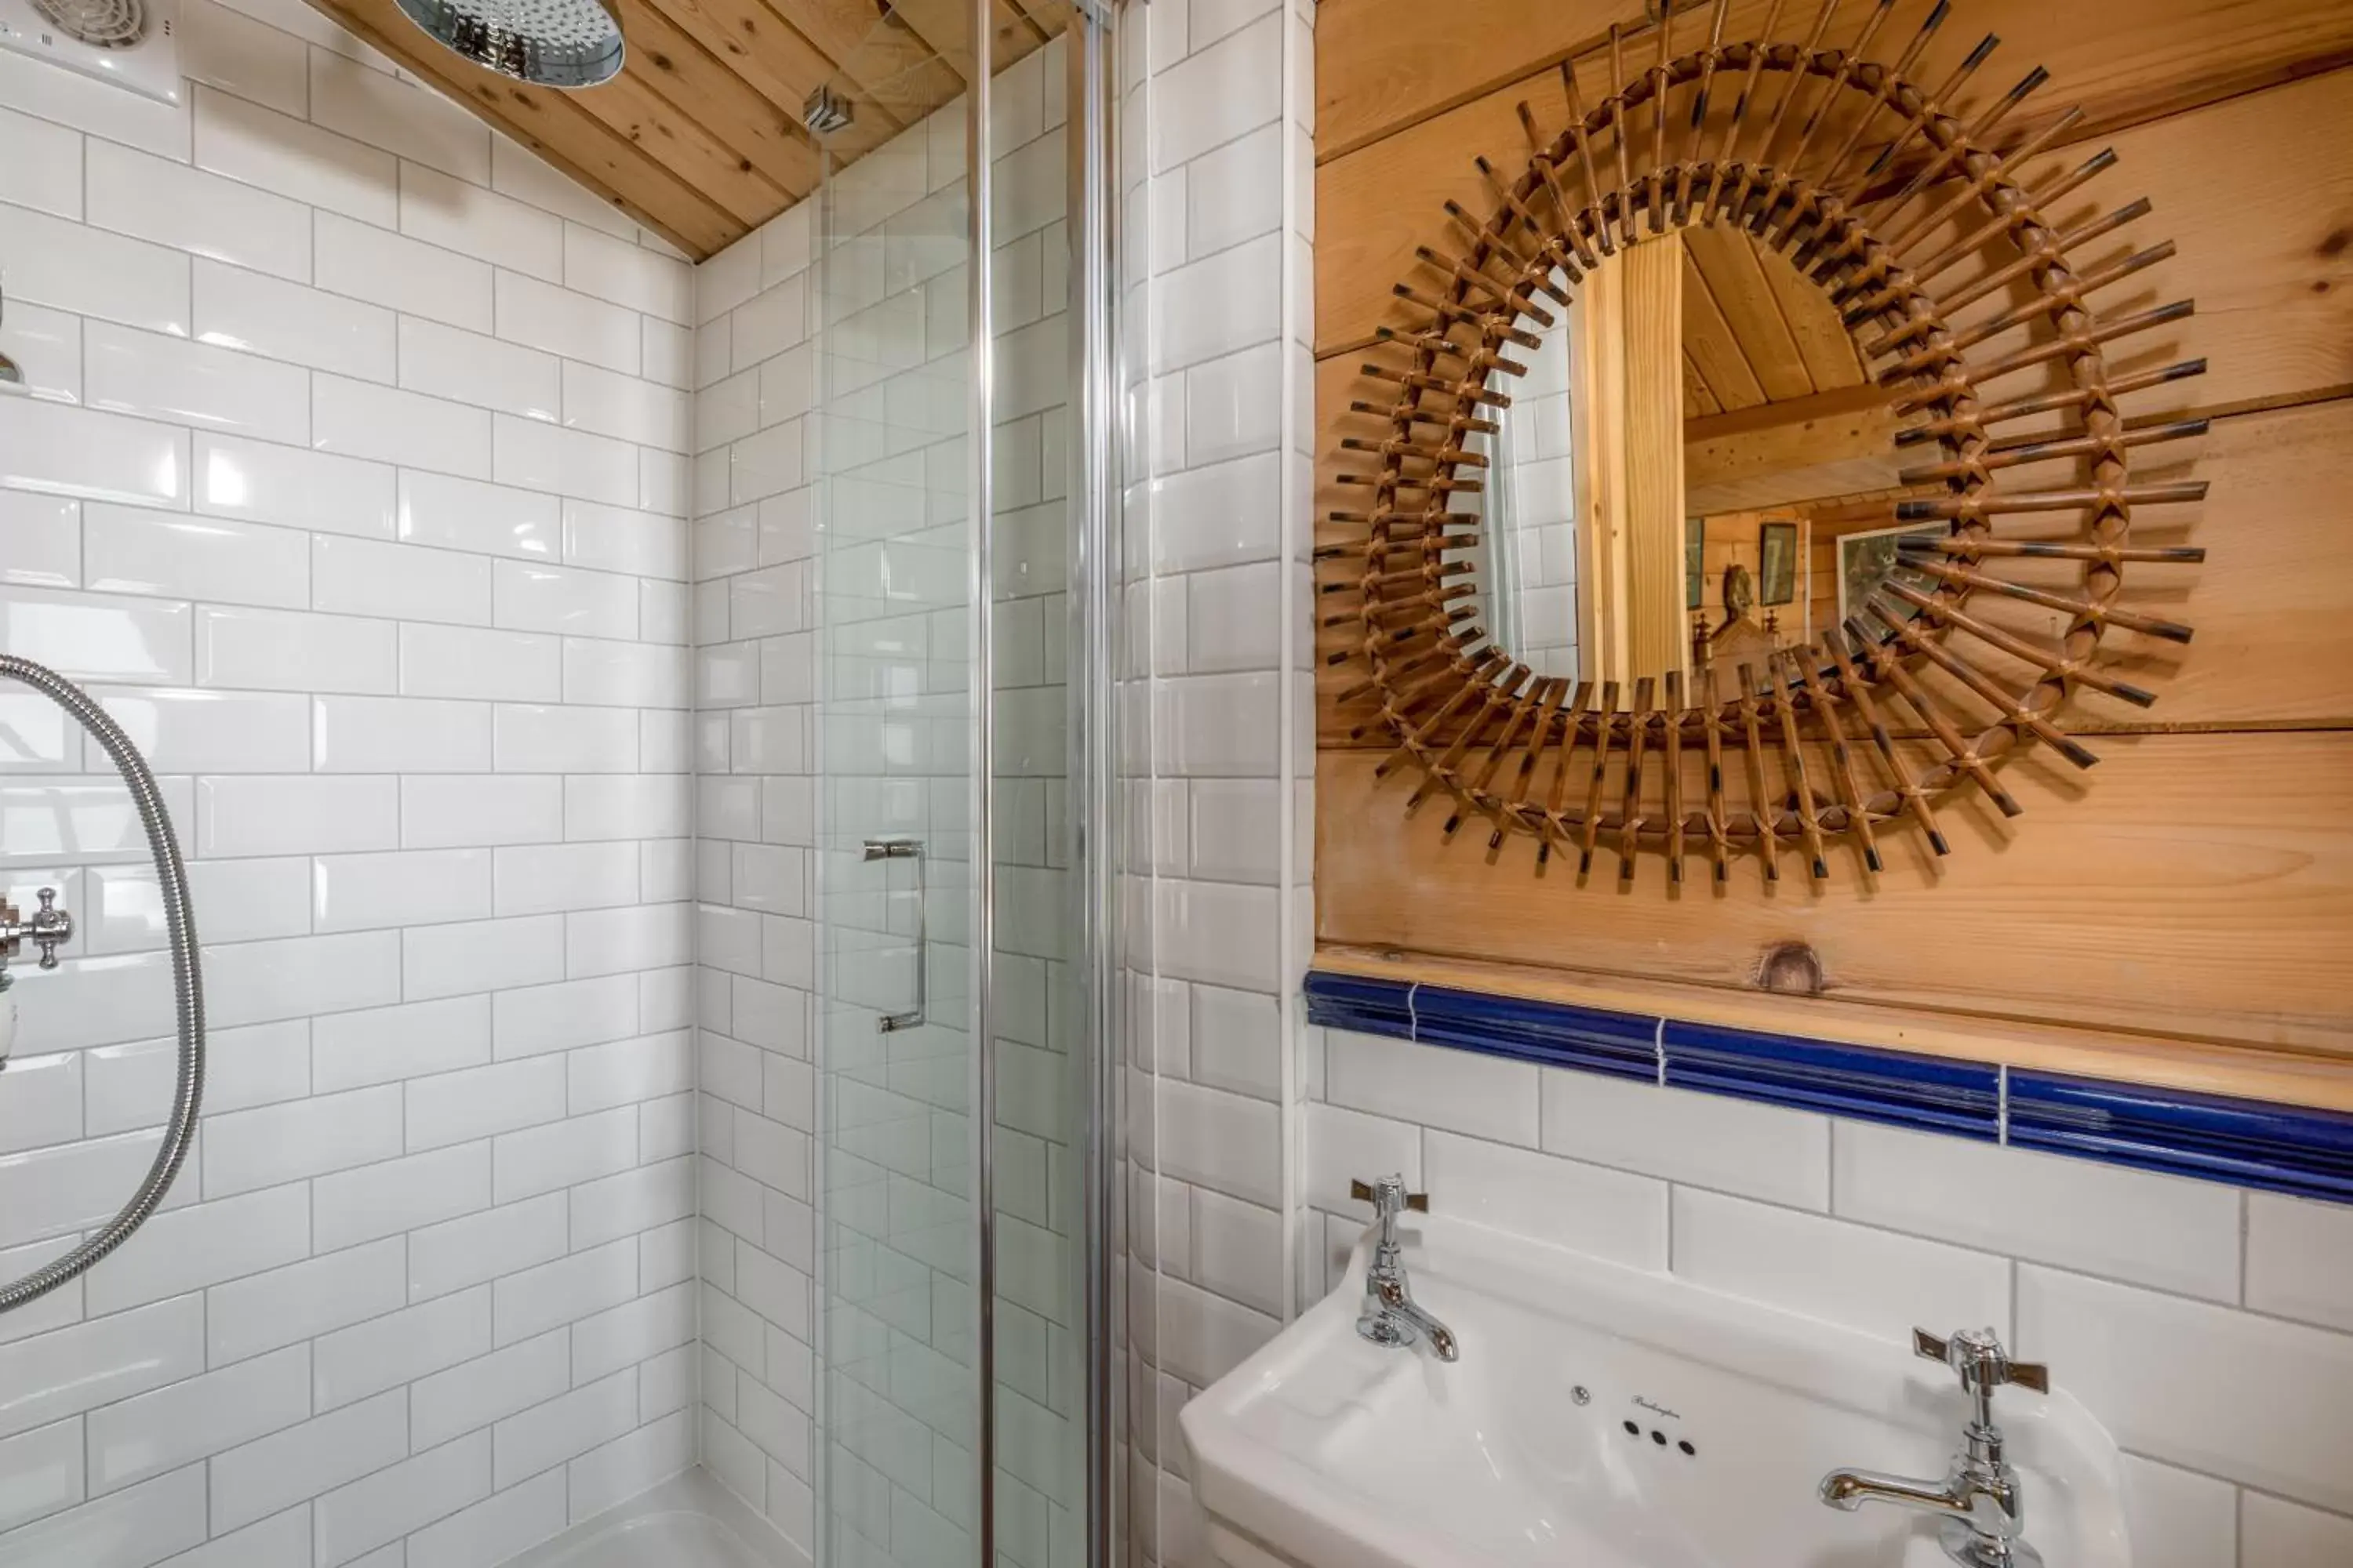
POLYGON ((525 87, 461 61, 419 33, 393 0, 311 2, 689 256, 708 256, 744 235, 741 219, 680 183, 649 150, 612 134, 572 94, 525 87))

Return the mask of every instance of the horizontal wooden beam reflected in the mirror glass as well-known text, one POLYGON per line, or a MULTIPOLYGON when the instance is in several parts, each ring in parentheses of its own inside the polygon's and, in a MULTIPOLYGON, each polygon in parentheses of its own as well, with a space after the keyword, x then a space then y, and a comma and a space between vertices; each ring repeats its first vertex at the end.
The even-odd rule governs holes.
POLYGON ((1897 484, 1897 421, 1871 386, 1682 421, 1685 505, 1741 512, 1897 484))

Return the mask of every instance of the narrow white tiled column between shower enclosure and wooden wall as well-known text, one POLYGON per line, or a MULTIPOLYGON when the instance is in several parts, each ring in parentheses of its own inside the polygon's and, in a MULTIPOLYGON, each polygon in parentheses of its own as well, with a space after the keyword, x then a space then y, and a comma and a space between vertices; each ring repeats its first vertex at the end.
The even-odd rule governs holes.
POLYGON ((1144 1563, 1193 1568, 1176 1410, 1320 1286, 1299 1267, 1313 1173, 1292 1135, 1315 837, 1315 7, 1155 0, 1132 21, 1129 1540, 1144 1563))

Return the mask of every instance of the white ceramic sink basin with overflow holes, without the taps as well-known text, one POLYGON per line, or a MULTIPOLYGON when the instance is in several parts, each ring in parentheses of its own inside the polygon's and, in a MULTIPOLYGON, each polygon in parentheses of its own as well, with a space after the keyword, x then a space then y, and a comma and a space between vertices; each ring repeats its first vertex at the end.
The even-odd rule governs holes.
MULTIPOLYGON (((1348 1279, 1181 1415, 1212 1549, 1266 1568, 1932 1568, 1934 1523, 1824 1507, 1840 1465, 1941 1479, 1960 1380, 1847 1328, 1442 1215, 1414 1298, 1461 1340, 1381 1349, 1348 1279), (1628 1432, 1628 1425, 1633 1432, 1628 1432), (1685 1448, 1689 1446, 1689 1448, 1685 1448)), ((1922 1324, 1934 1333, 1972 1324, 1922 1324)), ((2066 1394, 1998 1392, 2049 1568, 2129 1568, 2115 1443, 2066 1394)))

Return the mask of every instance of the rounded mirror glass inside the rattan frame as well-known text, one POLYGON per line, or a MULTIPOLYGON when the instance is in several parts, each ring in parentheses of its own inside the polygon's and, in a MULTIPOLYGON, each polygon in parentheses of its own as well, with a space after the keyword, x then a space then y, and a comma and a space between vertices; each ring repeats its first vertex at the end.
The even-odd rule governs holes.
MULTIPOLYGON (((1777 649, 1868 621, 1899 564, 1894 416, 1831 299, 1729 226, 1645 237, 1574 303, 1532 301, 1534 346, 1454 510, 1482 520, 1478 616, 1537 675, 1678 675, 1685 701, 1765 679, 1777 649)), ((1892 614, 1904 607, 1887 595, 1892 614)))

